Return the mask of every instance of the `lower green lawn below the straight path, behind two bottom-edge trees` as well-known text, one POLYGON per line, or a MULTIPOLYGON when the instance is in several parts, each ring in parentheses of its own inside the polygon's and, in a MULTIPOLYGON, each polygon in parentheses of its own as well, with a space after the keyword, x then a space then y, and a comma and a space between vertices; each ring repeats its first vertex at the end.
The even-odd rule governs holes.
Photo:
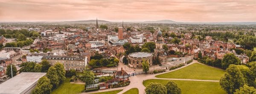
MULTIPOLYGON (((145 80, 143 85, 146 86, 151 82, 165 85, 169 80, 145 80)), ((219 82, 205 81, 182 81, 173 80, 181 88, 182 94, 227 94, 221 89, 219 82)))

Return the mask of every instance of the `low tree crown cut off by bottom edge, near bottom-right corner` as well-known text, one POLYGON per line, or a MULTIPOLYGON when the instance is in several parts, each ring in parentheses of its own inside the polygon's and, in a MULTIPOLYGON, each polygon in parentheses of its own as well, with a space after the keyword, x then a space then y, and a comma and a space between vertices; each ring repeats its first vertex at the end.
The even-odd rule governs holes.
POLYGON ((244 85, 243 87, 236 89, 234 94, 256 94, 256 89, 249 87, 248 85, 244 85))

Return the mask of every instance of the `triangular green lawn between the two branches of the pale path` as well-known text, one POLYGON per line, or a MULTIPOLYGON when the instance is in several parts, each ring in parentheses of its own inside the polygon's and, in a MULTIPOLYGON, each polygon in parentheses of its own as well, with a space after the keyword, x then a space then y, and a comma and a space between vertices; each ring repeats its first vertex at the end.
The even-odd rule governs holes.
POLYGON ((160 74, 158 78, 180 78, 180 79, 198 79, 198 80, 219 80, 225 73, 224 70, 212 68, 199 63, 194 63, 185 68, 172 71, 166 74, 160 74))

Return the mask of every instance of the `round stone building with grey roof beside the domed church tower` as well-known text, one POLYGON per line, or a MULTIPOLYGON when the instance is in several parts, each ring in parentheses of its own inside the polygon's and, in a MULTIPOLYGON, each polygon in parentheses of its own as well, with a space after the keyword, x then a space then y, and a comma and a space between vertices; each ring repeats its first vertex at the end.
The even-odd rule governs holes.
POLYGON ((128 64, 131 68, 141 68, 143 60, 148 61, 149 66, 153 64, 153 54, 147 52, 134 52, 128 55, 128 64))

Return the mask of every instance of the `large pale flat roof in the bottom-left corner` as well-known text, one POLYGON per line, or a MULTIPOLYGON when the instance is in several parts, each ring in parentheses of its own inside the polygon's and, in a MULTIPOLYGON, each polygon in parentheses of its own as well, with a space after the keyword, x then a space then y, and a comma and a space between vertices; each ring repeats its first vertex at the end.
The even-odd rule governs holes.
POLYGON ((0 84, 0 94, 24 94, 33 88, 39 78, 46 75, 41 72, 22 72, 0 84))

